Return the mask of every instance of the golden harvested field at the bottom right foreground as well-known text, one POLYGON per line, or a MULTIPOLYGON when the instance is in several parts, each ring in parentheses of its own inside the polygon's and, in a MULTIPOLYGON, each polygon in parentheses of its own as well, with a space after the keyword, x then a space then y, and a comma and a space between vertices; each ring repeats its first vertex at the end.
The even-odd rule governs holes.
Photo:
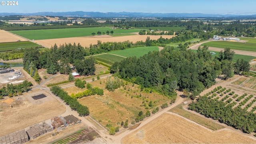
POLYGON ((256 143, 230 130, 203 128, 175 114, 165 113, 122 139, 122 143, 256 143))

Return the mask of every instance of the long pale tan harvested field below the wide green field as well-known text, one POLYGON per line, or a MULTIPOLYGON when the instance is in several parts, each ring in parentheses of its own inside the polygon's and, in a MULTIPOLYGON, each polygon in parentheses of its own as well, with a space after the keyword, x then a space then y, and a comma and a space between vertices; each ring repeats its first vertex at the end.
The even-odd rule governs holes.
MULTIPOLYGON (((74 37, 74 38, 56 38, 56 39, 47 39, 47 40, 35 40, 37 44, 50 48, 55 43, 57 46, 60 44, 71 43, 76 44, 80 43, 81 46, 89 47, 90 44, 97 44, 97 41, 102 42, 124 42, 130 40, 130 42, 145 41, 149 35, 131 35, 131 36, 110 36, 110 35, 100 35, 100 36, 84 36, 84 37, 74 37)), ((151 40, 156 40, 160 36, 149 36, 151 40)), ((172 38, 173 35, 162 35, 162 38, 172 38)))

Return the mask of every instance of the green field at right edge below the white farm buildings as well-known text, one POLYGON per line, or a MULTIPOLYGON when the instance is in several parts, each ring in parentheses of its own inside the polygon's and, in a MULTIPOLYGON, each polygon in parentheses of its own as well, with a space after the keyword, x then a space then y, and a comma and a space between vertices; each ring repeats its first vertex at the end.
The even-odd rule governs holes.
POLYGON ((216 47, 216 48, 226 48, 230 47, 233 50, 246 50, 246 51, 251 51, 251 52, 256 52, 256 42, 254 41, 249 41, 246 43, 243 42, 230 42, 230 41, 211 41, 204 43, 202 45, 207 45, 211 47, 216 47))

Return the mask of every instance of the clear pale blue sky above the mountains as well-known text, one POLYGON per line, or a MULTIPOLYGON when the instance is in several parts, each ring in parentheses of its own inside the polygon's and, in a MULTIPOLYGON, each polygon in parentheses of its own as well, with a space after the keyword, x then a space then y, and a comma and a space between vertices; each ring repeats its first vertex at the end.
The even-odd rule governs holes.
POLYGON ((147 12, 256 14, 256 0, 16 0, 7 6, 0 0, 0 12, 147 12))

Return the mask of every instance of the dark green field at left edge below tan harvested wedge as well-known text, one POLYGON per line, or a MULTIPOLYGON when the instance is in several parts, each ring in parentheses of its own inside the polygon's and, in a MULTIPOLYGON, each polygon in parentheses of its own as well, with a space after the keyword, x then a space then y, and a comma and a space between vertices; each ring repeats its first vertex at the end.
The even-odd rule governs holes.
POLYGON ((34 48, 40 47, 39 44, 35 44, 33 42, 25 41, 25 42, 4 42, 0 43, 0 52, 15 50, 17 48, 34 48))

